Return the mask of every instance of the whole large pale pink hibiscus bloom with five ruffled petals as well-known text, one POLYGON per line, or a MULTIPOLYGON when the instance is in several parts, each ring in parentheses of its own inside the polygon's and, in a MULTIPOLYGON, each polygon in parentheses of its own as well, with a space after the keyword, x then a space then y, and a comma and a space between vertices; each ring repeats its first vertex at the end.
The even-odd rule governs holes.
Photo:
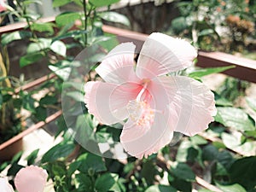
POLYGON ((194 136, 207 129, 217 111, 204 84, 173 74, 197 56, 188 42, 157 32, 146 39, 136 65, 134 51, 132 43, 110 51, 96 67, 105 82, 86 83, 84 102, 102 124, 125 122, 120 143, 143 158, 170 143, 173 131, 194 136))

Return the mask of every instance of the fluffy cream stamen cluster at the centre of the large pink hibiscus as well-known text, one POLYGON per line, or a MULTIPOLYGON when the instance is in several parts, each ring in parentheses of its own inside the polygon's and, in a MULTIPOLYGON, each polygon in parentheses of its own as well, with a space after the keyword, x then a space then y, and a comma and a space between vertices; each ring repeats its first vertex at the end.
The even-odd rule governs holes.
POLYGON ((127 106, 130 119, 136 125, 144 126, 151 125, 154 122, 154 110, 146 100, 138 102, 137 100, 130 101, 127 106))

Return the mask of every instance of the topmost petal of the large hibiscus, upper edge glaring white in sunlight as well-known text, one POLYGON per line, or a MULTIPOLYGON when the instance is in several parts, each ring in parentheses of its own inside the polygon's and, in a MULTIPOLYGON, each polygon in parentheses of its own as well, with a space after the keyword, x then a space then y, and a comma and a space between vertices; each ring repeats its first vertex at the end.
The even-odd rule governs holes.
POLYGON ((143 44, 136 73, 141 79, 152 79, 177 72, 189 67, 196 56, 195 48, 185 40, 154 32, 143 44))

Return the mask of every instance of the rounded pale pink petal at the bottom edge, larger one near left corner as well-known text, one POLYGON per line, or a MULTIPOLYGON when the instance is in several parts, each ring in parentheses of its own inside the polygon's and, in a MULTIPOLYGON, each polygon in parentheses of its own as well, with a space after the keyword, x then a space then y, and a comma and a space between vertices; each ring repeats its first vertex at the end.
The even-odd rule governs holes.
POLYGON ((27 166, 16 174, 15 187, 19 192, 43 192, 47 177, 47 172, 41 167, 27 166))

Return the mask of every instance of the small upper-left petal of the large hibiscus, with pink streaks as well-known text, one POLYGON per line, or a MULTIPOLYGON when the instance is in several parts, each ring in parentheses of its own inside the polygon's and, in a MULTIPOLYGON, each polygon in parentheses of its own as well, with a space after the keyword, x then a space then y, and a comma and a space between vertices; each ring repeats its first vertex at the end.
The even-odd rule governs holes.
POLYGON ((134 52, 134 44, 119 44, 108 53, 99 67, 96 67, 96 73, 106 82, 113 84, 138 81, 134 70, 134 52))

